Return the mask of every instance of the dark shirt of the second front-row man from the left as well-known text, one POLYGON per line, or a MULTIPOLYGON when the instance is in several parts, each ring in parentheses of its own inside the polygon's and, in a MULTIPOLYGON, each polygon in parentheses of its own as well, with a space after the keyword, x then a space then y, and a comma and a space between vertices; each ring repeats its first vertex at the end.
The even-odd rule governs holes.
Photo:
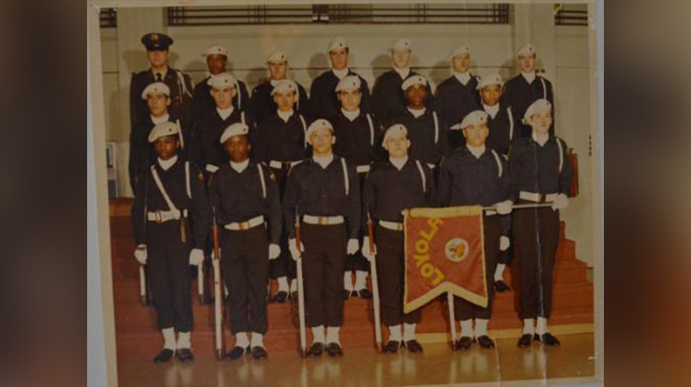
POLYGON ((250 161, 238 173, 229 164, 223 164, 211 180, 209 201, 216 209, 216 223, 219 225, 264 216, 269 221, 270 243, 281 240, 283 214, 278 185, 274 173, 265 165, 250 161), (259 168, 262 169, 263 176, 260 175, 259 168))

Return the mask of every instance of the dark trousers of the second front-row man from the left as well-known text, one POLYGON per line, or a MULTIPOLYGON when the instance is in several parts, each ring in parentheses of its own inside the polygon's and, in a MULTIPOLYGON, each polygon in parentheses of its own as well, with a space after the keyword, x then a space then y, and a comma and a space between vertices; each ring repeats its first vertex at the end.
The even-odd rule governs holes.
POLYGON ((265 334, 268 328, 266 284, 269 281, 266 228, 258 225, 246 230, 223 229, 220 247, 231 332, 265 334))

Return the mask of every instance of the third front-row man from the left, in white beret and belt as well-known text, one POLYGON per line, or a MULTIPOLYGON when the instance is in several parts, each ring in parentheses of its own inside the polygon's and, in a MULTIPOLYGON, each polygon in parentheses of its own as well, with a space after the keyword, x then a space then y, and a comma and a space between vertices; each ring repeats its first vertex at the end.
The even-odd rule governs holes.
POLYGON ((312 158, 288 173, 283 218, 294 260, 303 259, 305 311, 312 327, 309 356, 343 355, 339 329, 343 325, 345 256, 359 249, 360 187, 355 167, 334 156, 336 138, 327 120, 307 129, 312 158), (301 217, 301 245, 295 240, 296 216, 301 217), (326 336, 324 336, 326 325, 326 336), (326 344, 326 347, 325 347, 326 344))

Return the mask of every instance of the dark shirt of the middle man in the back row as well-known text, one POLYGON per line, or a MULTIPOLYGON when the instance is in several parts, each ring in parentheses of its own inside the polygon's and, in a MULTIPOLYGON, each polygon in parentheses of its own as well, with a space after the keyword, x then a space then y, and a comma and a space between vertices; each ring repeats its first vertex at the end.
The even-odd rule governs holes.
MULTIPOLYGON (((348 70, 348 75, 357 75, 352 70, 348 70)), ((362 99, 360 101, 360 110, 368 112, 370 100, 370 88, 367 86, 366 80, 360 78, 360 91, 362 99)), ((310 104, 312 105, 312 114, 314 118, 325 118, 329 120, 336 115, 341 109, 341 102, 336 95, 336 86, 338 86, 341 79, 337 77, 332 70, 325 71, 319 77, 316 77, 312 82, 310 88, 310 104)))

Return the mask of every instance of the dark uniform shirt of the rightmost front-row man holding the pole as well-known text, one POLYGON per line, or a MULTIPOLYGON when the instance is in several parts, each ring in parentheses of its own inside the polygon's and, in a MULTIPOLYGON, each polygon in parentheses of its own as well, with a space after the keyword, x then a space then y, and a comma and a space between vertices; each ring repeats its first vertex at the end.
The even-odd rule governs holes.
POLYGON ((567 149, 566 142, 553 135, 549 136, 544 147, 540 147, 532 137, 515 140, 509 155, 511 200, 518 200, 519 191, 564 193, 568 196, 571 188, 571 163, 567 149), (561 147, 557 141, 561 143, 561 147))

